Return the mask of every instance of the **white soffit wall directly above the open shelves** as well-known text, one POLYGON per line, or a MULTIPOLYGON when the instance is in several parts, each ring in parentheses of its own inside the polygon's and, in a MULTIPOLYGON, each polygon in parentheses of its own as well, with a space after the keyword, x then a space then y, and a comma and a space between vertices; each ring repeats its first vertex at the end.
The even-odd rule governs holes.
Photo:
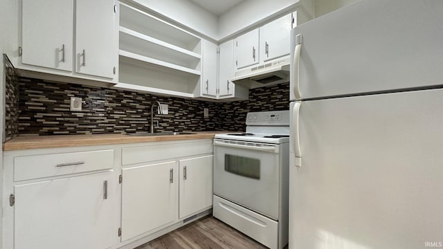
POLYGON ((218 37, 217 17, 191 1, 134 0, 134 2, 147 6, 147 8, 169 19, 168 21, 192 28, 205 38, 217 39, 218 37))

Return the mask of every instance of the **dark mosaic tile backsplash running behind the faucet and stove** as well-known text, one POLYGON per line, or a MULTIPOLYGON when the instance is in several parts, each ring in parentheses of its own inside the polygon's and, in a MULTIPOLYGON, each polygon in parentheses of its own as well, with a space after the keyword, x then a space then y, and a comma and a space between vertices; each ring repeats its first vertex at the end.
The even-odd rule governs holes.
POLYGON ((19 133, 149 131, 155 100, 169 108, 168 115, 154 115, 154 122, 159 122, 156 131, 244 131, 248 111, 289 109, 289 84, 251 89, 246 101, 219 103, 20 77, 19 133), (82 98, 82 111, 69 110, 71 97, 82 98), (209 109, 208 118, 204 108, 209 109))

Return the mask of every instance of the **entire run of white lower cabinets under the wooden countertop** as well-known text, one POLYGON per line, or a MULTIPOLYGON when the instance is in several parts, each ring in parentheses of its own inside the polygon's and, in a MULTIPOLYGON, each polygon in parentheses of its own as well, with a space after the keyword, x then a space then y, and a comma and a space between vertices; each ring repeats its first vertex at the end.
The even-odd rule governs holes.
POLYGON ((210 214, 213 140, 3 151, 0 248, 132 249, 210 214))

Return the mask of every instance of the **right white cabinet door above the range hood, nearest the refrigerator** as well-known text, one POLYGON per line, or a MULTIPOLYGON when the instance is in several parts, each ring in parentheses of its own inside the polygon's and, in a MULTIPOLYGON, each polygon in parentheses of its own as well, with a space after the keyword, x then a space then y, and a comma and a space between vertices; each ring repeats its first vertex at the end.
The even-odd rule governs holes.
POLYGON ((260 28, 260 59, 262 62, 289 55, 291 26, 292 14, 289 14, 260 28))

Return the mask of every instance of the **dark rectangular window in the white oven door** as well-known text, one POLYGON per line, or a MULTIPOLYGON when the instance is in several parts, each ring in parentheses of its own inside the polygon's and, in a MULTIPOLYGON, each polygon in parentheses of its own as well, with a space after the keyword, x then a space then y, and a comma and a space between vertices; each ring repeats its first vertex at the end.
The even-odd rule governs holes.
POLYGON ((224 170, 239 176, 260 179, 260 160, 225 154, 224 170))

